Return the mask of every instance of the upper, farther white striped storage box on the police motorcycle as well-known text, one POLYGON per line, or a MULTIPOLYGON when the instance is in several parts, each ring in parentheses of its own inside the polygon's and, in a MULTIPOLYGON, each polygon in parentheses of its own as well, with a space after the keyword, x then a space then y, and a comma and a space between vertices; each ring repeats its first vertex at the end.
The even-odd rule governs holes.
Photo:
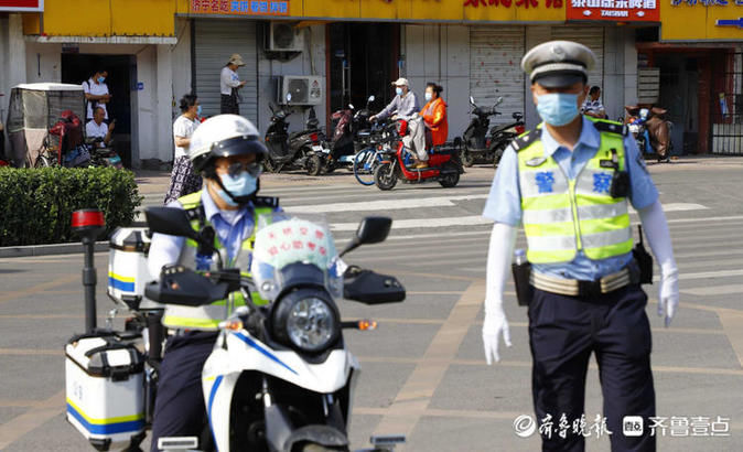
POLYGON ((144 298, 144 286, 153 281, 147 267, 150 237, 146 227, 120 227, 114 232, 108 252, 108 295, 133 311, 162 309, 144 298))

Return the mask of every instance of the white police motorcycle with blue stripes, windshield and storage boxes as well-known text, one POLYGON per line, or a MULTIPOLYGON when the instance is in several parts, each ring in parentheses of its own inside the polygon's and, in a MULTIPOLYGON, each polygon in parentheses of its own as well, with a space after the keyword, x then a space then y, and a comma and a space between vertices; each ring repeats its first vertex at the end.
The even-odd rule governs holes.
MULTIPOLYGON (((344 251, 326 225, 287 213, 259 219, 252 278, 222 267, 211 227, 201 233, 185 211, 151 207, 148 227, 120 228, 111 238, 109 297, 133 320, 125 331, 95 325, 93 246, 100 212, 75 213, 86 245, 86 327, 66 346, 67 420, 98 450, 137 450, 151 423, 162 345, 161 303, 198 306, 244 297, 246 306, 219 324, 202 375, 205 429, 201 437, 160 438, 166 451, 347 451, 353 391, 360 368, 342 331, 374 330, 369 320, 343 321, 335 300, 399 302, 405 288, 341 260, 348 251, 384 241, 391 219, 365 218, 344 251), (93 217, 86 224, 85 217, 93 217), (97 225, 95 224, 97 220, 97 225), (184 236, 200 254, 213 252, 216 271, 164 267, 159 282, 147 270, 148 236, 184 236), (126 275, 121 275, 126 273, 126 275), (91 276, 93 275, 93 276, 91 276)), ((77 222, 77 224, 76 224, 77 222)), ((115 312, 111 312, 115 314, 115 312)), ((391 451, 401 437, 373 437, 373 449, 391 451)))

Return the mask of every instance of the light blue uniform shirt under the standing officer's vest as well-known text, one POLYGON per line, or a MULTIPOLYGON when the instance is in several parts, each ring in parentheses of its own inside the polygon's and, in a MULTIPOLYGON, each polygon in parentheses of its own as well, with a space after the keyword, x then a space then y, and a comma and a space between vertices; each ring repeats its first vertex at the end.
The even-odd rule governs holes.
MULTIPOLYGON (((589 119, 583 118, 583 129, 571 152, 560 146, 542 128, 541 141, 545 157, 552 157, 560 169, 574 180, 589 160, 595 155, 601 144, 601 134, 589 119)), ((631 193, 628 201, 639 211, 658 200, 658 191, 645 168, 645 161, 637 150, 632 136, 624 138, 625 169, 629 173, 631 193)), ((518 179, 518 157, 513 147, 506 148, 495 173, 491 193, 485 203, 483 216, 496 223, 518 227, 521 224, 521 193, 518 179)), ((632 260, 632 252, 609 259, 592 260, 582 251, 570 262, 534 265, 535 271, 554 278, 595 280, 615 273, 632 260)))

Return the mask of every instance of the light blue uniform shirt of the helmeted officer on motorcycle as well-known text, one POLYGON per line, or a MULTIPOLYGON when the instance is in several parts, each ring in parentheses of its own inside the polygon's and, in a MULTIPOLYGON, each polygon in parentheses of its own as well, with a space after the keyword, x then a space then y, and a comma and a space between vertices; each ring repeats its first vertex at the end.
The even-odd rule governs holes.
MULTIPOLYGON (((248 204, 237 211, 222 211, 205 189, 202 191, 202 205, 204 206, 204 216, 214 227, 219 243, 227 250, 227 256, 229 259, 233 259, 237 256, 243 241, 252 234, 252 228, 255 227, 252 204, 248 204)), ((183 208, 183 205, 179 201, 173 201, 168 204, 168 207, 183 208)), ((279 209, 277 208, 276 211, 279 209)), ((153 277, 159 279, 160 269, 163 266, 177 262, 184 241, 184 237, 164 234, 154 234, 152 236, 148 267, 153 277)), ((225 266, 227 266, 226 262, 225 266)))

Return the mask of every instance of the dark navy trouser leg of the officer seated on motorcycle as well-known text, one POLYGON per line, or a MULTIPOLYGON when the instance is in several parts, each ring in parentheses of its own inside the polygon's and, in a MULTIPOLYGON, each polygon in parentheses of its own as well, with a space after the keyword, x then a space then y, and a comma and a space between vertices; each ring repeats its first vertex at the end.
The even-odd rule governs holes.
POLYGON ((158 438, 201 437, 206 421, 202 369, 217 333, 191 332, 171 336, 160 366, 152 421, 152 452, 158 438))

